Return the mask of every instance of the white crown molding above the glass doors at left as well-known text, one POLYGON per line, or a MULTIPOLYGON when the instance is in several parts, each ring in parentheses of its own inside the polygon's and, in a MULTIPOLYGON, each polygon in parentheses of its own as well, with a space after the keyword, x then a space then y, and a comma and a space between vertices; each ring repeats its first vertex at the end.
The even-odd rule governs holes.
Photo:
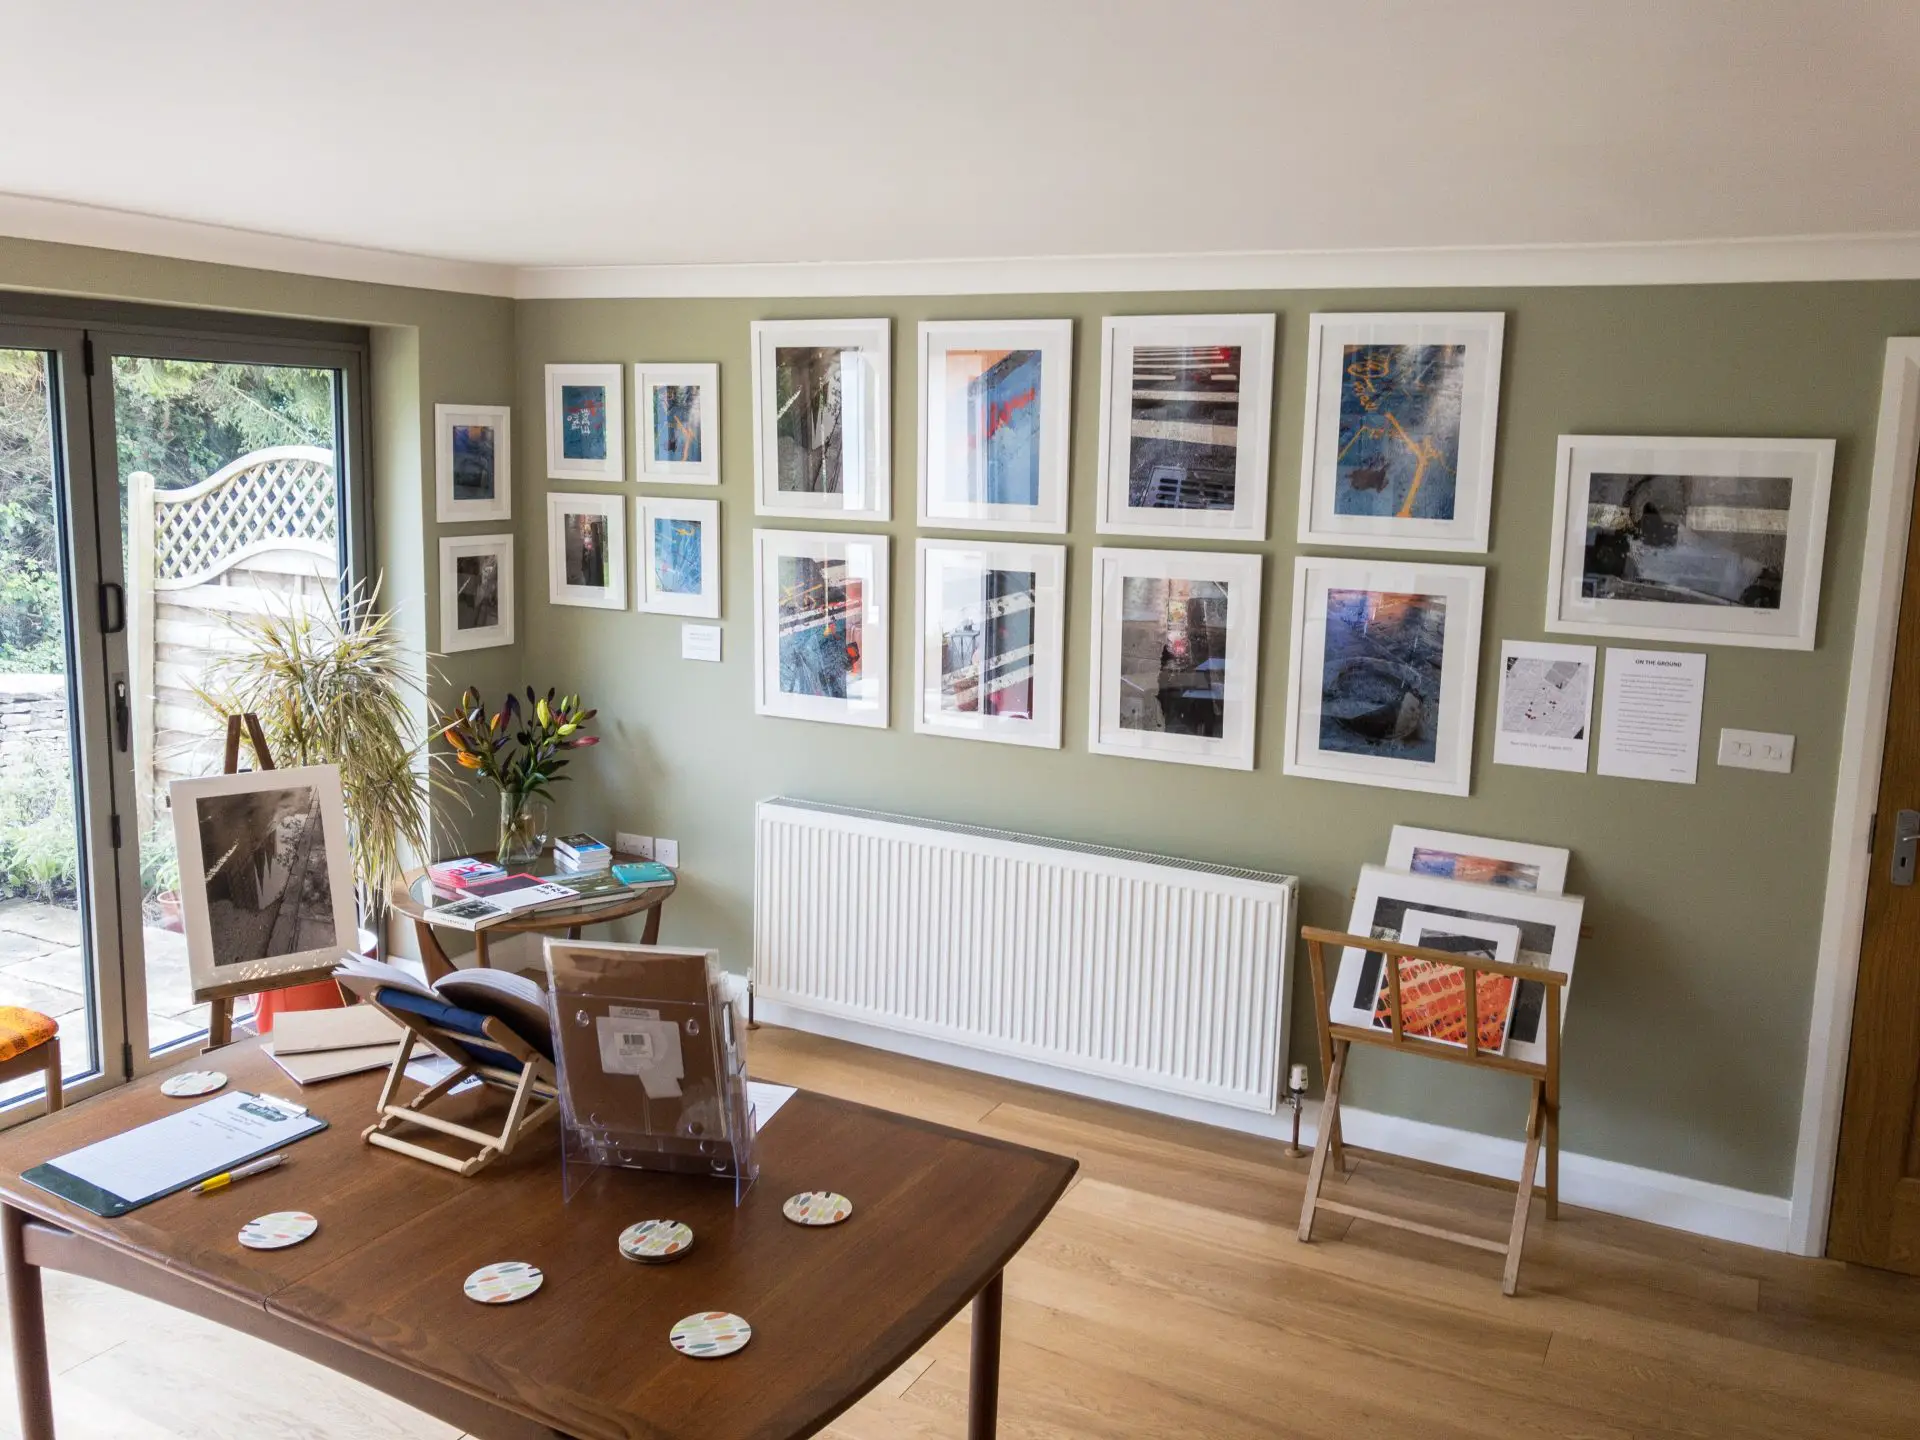
POLYGON ((503 298, 515 292, 515 271, 509 265, 434 259, 394 250, 340 246, 326 240, 296 240, 282 234, 173 221, 100 205, 73 205, 35 196, 0 194, 0 236, 194 259, 209 265, 242 265, 253 271, 280 271, 328 280, 403 284, 415 290, 455 290, 503 298))

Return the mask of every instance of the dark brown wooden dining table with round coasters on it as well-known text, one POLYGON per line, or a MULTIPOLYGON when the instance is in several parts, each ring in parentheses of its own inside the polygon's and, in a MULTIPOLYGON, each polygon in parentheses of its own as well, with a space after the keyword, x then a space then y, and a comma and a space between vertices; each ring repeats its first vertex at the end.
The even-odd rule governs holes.
MULTIPOLYGON (((177 1069, 207 1066, 196 1056, 177 1069)), ((833 1421, 968 1304, 970 1440, 995 1434, 1002 1271, 1077 1162, 908 1116, 797 1092, 758 1137, 760 1177, 601 1169, 561 1198, 555 1133, 468 1179, 361 1140, 382 1073, 307 1089, 234 1044, 232 1087, 298 1094, 328 1129, 288 1164, 205 1196, 177 1192, 102 1219, 21 1171, 200 1100, 159 1071, 0 1135, 0 1242, 21 1434, 52 1440, 40 1271, 84 1275, 259 1336, 488 1440, 783 1440, 833 1421), (852 1200, 841 1225, 781 1215, 801 1190, 852 1200), (246 1250, 240 1227, 278 1210, 319 1219, 288 1250, 246 1250), (668 1265, 620 1256, 641 1219, 680 1219, 668 1265), (518 1260, 528 1300, 468 1300, 474 1269, 518 1260), (668 1344, 672 1325, 732 1311, 751 1342, 722 1359, 668 1344)), ((476 1110, 499 1104, 476 1091, 476 1110)))

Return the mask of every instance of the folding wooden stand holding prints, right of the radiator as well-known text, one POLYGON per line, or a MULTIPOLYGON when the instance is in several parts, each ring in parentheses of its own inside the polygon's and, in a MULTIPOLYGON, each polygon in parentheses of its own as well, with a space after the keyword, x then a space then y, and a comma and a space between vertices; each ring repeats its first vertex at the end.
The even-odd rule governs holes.
POLYGON ((1534 1198, 1534 1169, 1540 1164, 1542 1140, 1546 1142, 1548 1152, 1548 1173, 1544 1185, 1548 1219, 1559 1219, 1559 1021, 1561 989, 1567 985, 1567 977, 1536 966, 1509 966, 1498 960, 1453 954, 1452 950, 1428 950, 1419 945, 1400 945, 1398 941, 1375 941, 1365 935, 1342 935, 1334 929, 1315 929, 1311 925, 1304 925, 1300 929, 1300 939, 1308 943, 1313 966, 1313 1023, 1319 1029, 1321 1069, 1327 1075, 1327 1098, 1321 1104, 1319 1135, 1313 1137, 1313 1167, 1308 1171, 1308 1194, 1306 1202, 1300 1206, 1300 1238, 1311 1240, 1313 1213, 1317 1210, 1331 1210, 1336 1215, 1369 1219, 1375 1225, 1392 1225, 1398 1231, 1430 1235, 1436 1240, 1453 1240, 1455 1244, 1467 1244, 1475 1250, 1490 1250, 1496 1256, 1503 1256, 1507 1267, 1501 1275, 1500 1288, 1503 1294, 1513 1294, 1521 1281, 1521 1250, 1526 1244, 1526 1212, 1534 1198), (1334 960, 1338 960, 1346 947, 1373 950, 1386 956, 1382 970, 1386 972, 1386 1002, 1392 1016, 1392 1029, 1340 1025, 1332 1021, 1329 1016, 1327 995, 1329 945, 1336 947, 1334 960), (1404 1033, 1404 1016, 1400 1008, 1402 958, 1428 960, 1463 972, 1461 981, 1467 998, 1467 1044, 1444 1044, 1442 1041, 1428 1041, 1419 1035, 1404 1033), (1546 987, 1548 1058, 1544 1064, 1515 1060, 1496 1050, 1480 1048, 1478 981, 1471 979, 1471 975, 1480 973, 1513 975, 1517 981, 1536 981, 1546 987), (1332 1156, 1334 1169, 1342 1167, 1344 1146, 1340 1144, 1340 1081, 1346 1075, 1348 1052, 1356 1044, 1379 1044, 1388 1050, 1430 1056, 1432 1060, 1452 1060, 1459 1066, 1476 1066, 1480 1069, 1498 1069, 1507 1075, 1523 1075, 1530 1081, 1532 1106, 1526 1112, 1526 1158, 1521 1162, 1519 1196, 1513 1202, 1513 1229, 1507 1233, 1505 1244, 1500 1244, 1498 1240, 1484 1240, 1478 1235, 1467 1235, 1463 1231, 1440 1229, 1438 1225, 1421 1225, 1379 1210, 1350 1206, 1342 1200, 1321 1198, 1321 1183, 1327 1179, 1327 1158, 1332 1156))

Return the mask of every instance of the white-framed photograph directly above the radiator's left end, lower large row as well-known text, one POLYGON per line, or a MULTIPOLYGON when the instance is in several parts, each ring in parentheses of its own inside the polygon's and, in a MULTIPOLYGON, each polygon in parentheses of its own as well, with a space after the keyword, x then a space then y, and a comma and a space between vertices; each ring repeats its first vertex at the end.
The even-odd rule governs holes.
POLYGON ((887 728, 887 543, 753 532, 755 710, 887 728))

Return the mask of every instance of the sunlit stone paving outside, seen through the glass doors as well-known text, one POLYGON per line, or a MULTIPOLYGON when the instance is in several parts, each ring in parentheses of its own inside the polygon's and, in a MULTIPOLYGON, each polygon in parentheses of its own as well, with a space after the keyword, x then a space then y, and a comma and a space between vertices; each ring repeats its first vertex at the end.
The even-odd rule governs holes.
MULTIPOLYGON (((81 914, 40 900, 0 900, 0 1004, 23 1004, 60 1023, 60 1069, 94 1069, 86 1023, 86 950, 81 914)), ((207 1027, 205 1002, 194 1004, 186 970, 186 937, 146 929, 146 1029, 159 1048, 207 1027)), ((0 1085, 0 1102, 38 1089, 36 1079, 0 1085)))

